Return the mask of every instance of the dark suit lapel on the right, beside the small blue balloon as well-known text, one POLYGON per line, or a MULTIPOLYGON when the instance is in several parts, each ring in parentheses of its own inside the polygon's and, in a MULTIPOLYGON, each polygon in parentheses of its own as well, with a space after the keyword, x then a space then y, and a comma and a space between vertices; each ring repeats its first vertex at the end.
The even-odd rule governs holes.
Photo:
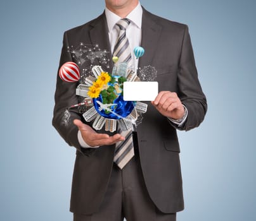
POLYGON ((145 49, 145 54, 139 59, 139 67, 143 68, 152 64, 158 46, 158 39, 162 32, 162 27, 153 20, 151 13, 144 8, 141 30, 141 47, 145 49))

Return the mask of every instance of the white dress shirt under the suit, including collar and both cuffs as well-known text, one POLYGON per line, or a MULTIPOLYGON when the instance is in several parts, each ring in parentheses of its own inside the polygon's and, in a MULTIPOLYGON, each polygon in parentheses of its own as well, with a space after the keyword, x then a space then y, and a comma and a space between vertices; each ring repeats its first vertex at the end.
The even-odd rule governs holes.
MULTIPOLYGON (((129 40, 129 46, 131 47, 131 54, 132 54, 132 66, 135 69, 138 69, 138 63, 139 59, 136 59, 133 49, 139 45, 141 45, 141 23, 142 23, 142 14, 143 9, 141 7, 141 4, 138 3, 136 8, 134 8, 129 15, 126 16, 131 23, 126 29, 126 37, 129 40)), ((110 47, 111 52, 113 54, 113 49, 115 47, 115 42, 118 38, 119 28, 117 25, 115 25, 120 19, 122 19, 120 16, 116 15, 112 11, 110 11, 108 8, 105 8, 105 15, 106 15, 106 23, 108 24, 108 37, 110 39, 110 47)), ((180 120, 172 120, 168 117, 170 121, 172 121, 174 124, 177 124, 178 126, 182 126, 182 124, 186 121, 188 110, 186 107, 184 107, 186 110, 186 114, 182 119, 180 120)), ((79 143, 84 148, 98 148, 98 146, 89 146, 82 138, 82 134, 80 131, 78 131, 77 138, 79 140, 79 143)))

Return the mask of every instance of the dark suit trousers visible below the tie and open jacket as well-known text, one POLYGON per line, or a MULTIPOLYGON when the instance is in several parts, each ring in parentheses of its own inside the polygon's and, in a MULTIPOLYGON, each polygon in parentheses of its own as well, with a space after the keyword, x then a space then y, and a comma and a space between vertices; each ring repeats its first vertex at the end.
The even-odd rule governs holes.
POLYGON ((139 163, 135 156, 120 170, 113 164, 106 194, 97 213, 74 214, 74 221, 176 221, 176 213, 162 213, 150 199, 139 163))

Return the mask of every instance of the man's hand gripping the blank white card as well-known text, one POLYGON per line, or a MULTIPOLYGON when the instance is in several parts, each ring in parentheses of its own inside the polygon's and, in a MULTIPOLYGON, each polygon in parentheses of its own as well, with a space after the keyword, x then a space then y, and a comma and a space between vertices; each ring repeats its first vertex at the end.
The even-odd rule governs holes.
POLYGON ((151 101, 151 104, 165 117, 181 119, 185 114, 181 100, 175 92, 159 92, 155 100, 151 101))

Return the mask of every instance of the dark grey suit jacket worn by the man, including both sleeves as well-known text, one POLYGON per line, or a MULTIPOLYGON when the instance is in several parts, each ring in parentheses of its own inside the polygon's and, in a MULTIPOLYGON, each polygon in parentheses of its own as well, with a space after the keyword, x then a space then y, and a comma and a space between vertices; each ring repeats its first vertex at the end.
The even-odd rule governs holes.
MULTIPOLYGON (((72 61, 67 47, 79 45, 80 42, 99 44, 101 49, 110 51, 104 13, 64 33, 60 66, 72 61)), ((141 46, 146 53, 139 60, 139 66, 155 66, 159 90, 177 92, 188 109, 188 118, 179 129, 188 131, 199 126, 207 111, 207 102, 198 81, 188 27, 143 9, 141 46)), ((112 66, 103 66, 103 69, 111 73, 112 66)), ((66 83, 57 76, 53 126, 68 145, 77 148, 70 211, 90 214, 98 210, 103 200, 112 172, 115 145, 82 148, 77 140, 77 127, 73 124, 68 127, 61 125, 65 109, 78 102, 76 87, 77 83, 66 83)), ((142 124, 138 126, 138 146, 146 188, 159 210, 178 212, 184 208, 184 201, 176 125, 171 124, 150 103, 143 117, 142 124)), ((73 119, 82 117, 72 112, 70 120, 73 119)))

